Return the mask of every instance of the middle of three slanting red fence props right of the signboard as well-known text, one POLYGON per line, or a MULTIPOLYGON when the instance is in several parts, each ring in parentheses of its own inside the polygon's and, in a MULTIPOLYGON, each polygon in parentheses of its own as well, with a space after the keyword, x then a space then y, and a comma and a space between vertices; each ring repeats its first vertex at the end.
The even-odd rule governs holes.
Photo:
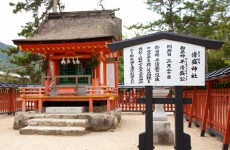
POLYGON ((208 118, 209 103, 211 101, 212 83, 208 82, 207 86, 208 86, 208 89, 207 89, 206 97, 205 97, 205 107, 204 107, 203 121, 202 121, 200 136, 204 136, 205 134, 206 123, 207 123, 207 118, 208 118))

